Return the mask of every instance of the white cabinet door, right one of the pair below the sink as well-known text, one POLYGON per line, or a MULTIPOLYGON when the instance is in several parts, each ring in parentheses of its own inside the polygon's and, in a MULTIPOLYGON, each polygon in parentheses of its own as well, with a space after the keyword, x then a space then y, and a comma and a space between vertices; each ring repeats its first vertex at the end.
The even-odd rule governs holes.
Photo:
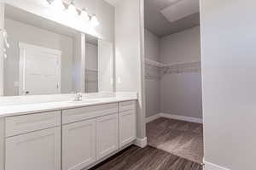
POLYGON ((97 160, 119 149, 118 114, 97 118, 96 143, 97 160))

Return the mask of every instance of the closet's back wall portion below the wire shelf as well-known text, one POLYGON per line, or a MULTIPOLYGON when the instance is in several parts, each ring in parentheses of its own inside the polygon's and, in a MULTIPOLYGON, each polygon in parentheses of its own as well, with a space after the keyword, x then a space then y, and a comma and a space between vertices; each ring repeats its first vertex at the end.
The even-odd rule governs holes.
POLYGON ((166 75, 160 82, 162 113, 202 118, 201 72, 166 75))

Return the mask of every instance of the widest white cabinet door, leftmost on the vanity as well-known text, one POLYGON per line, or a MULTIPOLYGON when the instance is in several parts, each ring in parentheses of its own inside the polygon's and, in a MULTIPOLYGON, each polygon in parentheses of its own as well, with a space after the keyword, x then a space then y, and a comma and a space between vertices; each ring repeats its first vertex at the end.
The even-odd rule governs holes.
POLYGON ((61 128, 6 139, 5 170, 61 170, 61 128))

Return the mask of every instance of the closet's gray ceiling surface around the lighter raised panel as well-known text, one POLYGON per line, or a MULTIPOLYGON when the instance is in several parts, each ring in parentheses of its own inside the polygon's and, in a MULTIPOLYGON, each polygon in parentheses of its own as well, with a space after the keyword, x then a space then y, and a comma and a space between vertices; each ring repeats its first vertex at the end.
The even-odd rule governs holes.
MULTIPOLYGON (((149 31, 154 32, 157 36, 165 37, 177 31, 183 31, 194 26, 199 26, 199 12, 189 14, 182 19, 172 22, 168 21, 164 14, 161 13, 161 11, 164 11, 166 8, 169 8, 169 12, 172 13, 170 7, 173 5, 173 8, 176 8, 175 5, 181 1, 183 0, 144 0, 145 27, 148 28, 149 31)), ((199 0, 198 2, 194 2, 199 3, 199 0)))

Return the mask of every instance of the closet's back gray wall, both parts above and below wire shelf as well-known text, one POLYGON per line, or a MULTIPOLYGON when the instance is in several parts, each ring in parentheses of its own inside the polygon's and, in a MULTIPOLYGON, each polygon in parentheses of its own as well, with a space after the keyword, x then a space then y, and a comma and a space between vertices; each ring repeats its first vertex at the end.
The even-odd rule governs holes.
MULTIPOLYGON (((161 63, 189 63, 200 60, 199 26, 161 38, 161 63)), ((160 111, 201 118, 201 71, 164 75, 160 80, 160 111)))

